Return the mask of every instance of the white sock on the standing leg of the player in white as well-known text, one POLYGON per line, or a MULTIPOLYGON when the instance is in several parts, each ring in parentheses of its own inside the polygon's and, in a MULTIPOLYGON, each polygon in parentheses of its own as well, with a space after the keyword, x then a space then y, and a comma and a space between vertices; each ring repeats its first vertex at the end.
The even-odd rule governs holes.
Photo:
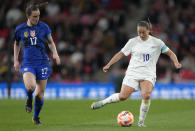
POLYGON ((144 122, 150 107, 150 100, 143 100, 140 106, 139 122, 144 122))

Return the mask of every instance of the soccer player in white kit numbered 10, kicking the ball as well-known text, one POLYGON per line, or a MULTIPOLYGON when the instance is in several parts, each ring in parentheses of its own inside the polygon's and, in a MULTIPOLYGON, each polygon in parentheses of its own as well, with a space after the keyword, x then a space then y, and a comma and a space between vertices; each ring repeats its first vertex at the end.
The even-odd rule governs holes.
POLYGON ((108 98, 94 102, 92 109, 98 109, 105 104, 126 100, 131 93, 140 87, 142 103, 140 106, 140 115, 138 126, 145 127, 144 120, 150 106, 150 95, 156 82, 156 63, 161 53, 165 53, 173 61, 177 69, 182 65, 178 62, 176 55, 165 45, 165 43, 149 35, 150 25, 146 21, 140 21, 137 24, 138 36, 126 43, 126 45, 116 53, 109 63, 103 67, 107 72, 110 66, 120 60, 123 56, 131 54, 131 60, 122 82, 120 93, 115 93, 108 98))

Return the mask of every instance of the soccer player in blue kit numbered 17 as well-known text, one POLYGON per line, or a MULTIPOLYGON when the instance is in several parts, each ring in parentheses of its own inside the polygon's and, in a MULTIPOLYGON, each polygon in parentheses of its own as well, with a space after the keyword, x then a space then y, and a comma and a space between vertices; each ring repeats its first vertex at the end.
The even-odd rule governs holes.
MULTIPOLYGON (((47 4, 47 3, 46 3, 47 4)), ((39 113, 44 102, 44 91, 47 79, 51 74, 50 60, 46 53, 44 43, 48 43, 53 59, 60 64, 55 43, 51 36, 51 30, 47 24, 39 21, 40 6, 44 4, 29 4, 26 8, 27 22, 16 27, 14 35, 14 68, 23 74, 25 88, 27 90, 26 112, 32 112, 32 93, 35 90, 35 103, 33 122, 41 125, 39 113), (47 42, 46 42, 47 41, 47 42), (22 64, 19 67, 18 55, 23 49, 22 64)))

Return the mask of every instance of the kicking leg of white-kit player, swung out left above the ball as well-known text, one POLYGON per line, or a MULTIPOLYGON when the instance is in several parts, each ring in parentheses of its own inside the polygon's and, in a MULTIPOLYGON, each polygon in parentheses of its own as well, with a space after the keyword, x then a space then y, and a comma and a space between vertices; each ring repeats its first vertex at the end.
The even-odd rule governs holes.
POLYGON ((98 109, 109 103, 115 103, 115 102, 126 100, 134 91, 135 91, 134 88, 123 84, 120 93, 112 94, 111 96, 109 96, 104 100, 92 103, 91 109, 93 110, 98 109))

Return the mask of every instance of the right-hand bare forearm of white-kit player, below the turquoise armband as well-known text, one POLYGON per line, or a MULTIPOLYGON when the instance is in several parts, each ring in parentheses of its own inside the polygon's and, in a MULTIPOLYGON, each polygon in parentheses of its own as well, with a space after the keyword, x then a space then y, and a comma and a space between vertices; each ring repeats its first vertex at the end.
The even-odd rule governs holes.
POLYGON ((170 49, 168 51, 166 51, 165 54, 170 57, 170 59, 172 60, 172 62, 175 65, 176 69, 180 69, 182 67, 182 65, 177 60, 177 56, 170 49))

